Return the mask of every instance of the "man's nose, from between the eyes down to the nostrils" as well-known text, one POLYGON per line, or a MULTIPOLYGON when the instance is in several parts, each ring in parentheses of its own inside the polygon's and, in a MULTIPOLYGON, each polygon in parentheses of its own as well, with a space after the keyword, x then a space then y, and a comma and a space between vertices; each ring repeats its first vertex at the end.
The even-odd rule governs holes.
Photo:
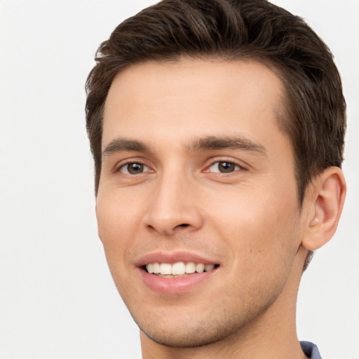
POLYGON ((173 172, 163 175, 149 198, 145 225, 165 236, 201 228, 203 217, 196 194, 196 184, 185 175, 173 172))

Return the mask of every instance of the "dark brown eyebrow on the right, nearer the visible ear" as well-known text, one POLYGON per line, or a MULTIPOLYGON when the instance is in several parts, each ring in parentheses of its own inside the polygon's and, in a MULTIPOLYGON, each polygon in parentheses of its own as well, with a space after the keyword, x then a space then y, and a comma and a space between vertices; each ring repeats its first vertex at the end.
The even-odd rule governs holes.
POLYGON ((205 149, 243 149, 245 151, 257 152, 266 155, 266 149, 255 141, 243 136, 217 137, 208 136, 198 138, 187 146, 189 151, 205 149))

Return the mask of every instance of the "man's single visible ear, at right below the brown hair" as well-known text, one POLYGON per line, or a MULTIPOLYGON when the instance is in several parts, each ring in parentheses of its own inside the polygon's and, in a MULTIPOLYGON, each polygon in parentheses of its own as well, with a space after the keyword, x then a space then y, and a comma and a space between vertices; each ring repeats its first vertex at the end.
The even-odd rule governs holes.
POLYGON ((326 168, 313 179, 304 201, 307 213, 304 248, 317 250, 330 241, 337 230, 345 195, 346 182, 340 168, 326 168))

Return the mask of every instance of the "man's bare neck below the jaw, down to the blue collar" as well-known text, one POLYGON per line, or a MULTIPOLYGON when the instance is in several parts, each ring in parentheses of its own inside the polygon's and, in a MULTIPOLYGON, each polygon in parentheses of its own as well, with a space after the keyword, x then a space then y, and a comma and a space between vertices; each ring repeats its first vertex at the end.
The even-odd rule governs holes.
POLYGON ((140 332, 143 359, 304 359, 296 330, 296 302, 307 251, 300 247, 283 292, 252 322, 221 341, 194 348, 163 346, 140 332))

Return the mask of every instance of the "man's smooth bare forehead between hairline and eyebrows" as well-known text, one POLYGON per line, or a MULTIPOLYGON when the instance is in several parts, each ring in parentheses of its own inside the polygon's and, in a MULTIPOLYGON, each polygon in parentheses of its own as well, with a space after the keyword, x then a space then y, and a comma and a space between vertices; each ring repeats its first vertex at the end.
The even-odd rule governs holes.
POLYGON ((252 137, 280 131, 283 84, 260 62, 182 58, 132 65, 114 79, 104 107, 102 145, 116 137, 252 137), (149 135, 153 135, 151 137, 149 135))

